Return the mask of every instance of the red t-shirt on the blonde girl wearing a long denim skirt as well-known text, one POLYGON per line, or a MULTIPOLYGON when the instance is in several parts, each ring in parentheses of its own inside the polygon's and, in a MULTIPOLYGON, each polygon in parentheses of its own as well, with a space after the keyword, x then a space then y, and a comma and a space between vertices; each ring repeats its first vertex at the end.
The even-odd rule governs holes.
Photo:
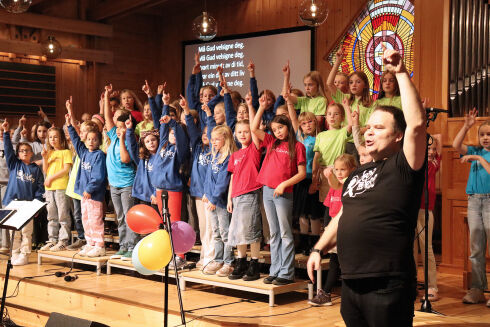
POLYGON ((251 143, 230 156, 228 171, 233 174, 231 197, 255 191, 262 187, 257 181, 260 169, 260 151, 251 143))

